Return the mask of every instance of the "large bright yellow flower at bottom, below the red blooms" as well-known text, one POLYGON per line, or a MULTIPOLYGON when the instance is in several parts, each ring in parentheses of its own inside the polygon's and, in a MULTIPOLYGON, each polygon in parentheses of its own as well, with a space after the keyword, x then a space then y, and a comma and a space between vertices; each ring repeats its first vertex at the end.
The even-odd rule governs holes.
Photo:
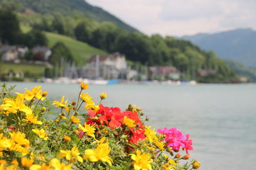
POLYGON ((112 166, 113 160, 108 156, 109 153, 110 148, 108 147, 108 143, 100 143, 96 150, 84 150, 84 159, 89 159, 91 162, 101 160, 102 162, 108 162, 108 164, 112 166))

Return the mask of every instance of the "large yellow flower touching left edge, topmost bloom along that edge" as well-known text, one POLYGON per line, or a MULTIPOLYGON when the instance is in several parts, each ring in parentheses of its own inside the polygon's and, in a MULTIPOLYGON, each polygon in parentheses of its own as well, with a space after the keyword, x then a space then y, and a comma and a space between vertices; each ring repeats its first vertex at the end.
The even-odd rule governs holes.
POLYGON ((15 100, 4 99, 4 104, 0 105, 0 110, 12 112, 12 113, 17 113, 17 111, 32 113, 32 110, 24 104, 23 94, 18 94, 15 100))

